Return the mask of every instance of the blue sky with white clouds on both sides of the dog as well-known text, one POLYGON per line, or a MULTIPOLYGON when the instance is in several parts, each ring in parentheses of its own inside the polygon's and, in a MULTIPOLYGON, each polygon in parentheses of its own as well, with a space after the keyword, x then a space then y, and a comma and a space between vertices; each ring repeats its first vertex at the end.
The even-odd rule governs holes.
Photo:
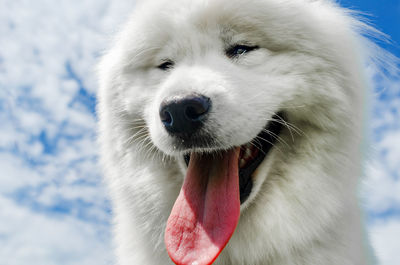
MULTIPOLYGON (((341 0, 400 57, 400 0, 341 0)), ((94 66, 134 1, 0 1, 0 263, 103 265, 110 203, 95 144, 94 66)), ((376 75, 362 191, 383 265, 400 264, 400 80, 376 75)))

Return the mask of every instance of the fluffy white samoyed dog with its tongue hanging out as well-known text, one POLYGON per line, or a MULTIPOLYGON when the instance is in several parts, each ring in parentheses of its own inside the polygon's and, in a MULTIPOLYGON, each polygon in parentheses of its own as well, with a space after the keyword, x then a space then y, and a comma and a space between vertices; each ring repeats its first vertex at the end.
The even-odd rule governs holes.
POLYGON ((328 0, 139 2, 99 69, 118 264, 367 264, 365 29, 328 0))

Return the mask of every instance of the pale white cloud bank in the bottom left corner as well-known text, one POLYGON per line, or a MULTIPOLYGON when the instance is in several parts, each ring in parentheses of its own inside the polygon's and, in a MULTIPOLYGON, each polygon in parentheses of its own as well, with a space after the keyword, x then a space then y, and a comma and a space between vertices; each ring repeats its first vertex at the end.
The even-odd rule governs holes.
POLYGON ((50 217, 0 197, 0 257, 13 265, 111 264, 108 230, 50 217))

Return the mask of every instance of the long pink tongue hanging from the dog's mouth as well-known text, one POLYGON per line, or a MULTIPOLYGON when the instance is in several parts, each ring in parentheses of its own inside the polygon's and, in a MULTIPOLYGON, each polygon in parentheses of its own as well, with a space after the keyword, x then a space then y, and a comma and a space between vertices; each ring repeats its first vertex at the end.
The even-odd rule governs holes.
POLYGON ((165 231, 175 264, 211 264, 231 238, 240 215, 238 155, 191 155, 165 231))

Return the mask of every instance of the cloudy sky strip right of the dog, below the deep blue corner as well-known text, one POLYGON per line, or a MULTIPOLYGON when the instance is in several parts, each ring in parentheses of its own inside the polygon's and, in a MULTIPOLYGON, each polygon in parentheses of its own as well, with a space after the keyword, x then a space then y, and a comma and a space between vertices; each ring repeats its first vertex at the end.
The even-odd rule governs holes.
POLYGON ((400 264, 400 79, 375 75, 371 149, 362 197, 381 265, 400 264))

